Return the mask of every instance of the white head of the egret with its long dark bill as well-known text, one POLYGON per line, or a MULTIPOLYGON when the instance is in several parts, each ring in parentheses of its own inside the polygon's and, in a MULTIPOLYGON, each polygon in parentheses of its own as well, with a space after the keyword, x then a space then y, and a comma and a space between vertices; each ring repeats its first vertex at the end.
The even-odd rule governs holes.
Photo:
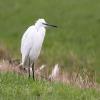
POLYGON ((50 27, 56 27, 57 28, 57 26, 55 26, 55 25, 48 24, 44 19, 38 19, 36 21, 35 25, 38 26, 38 27, 48 27, 48 26, 50 26, 50 27))

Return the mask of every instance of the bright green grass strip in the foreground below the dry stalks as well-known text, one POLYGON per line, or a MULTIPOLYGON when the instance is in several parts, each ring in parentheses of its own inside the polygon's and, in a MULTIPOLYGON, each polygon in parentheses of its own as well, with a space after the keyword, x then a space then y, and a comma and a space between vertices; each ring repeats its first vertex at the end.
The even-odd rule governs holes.
POLYGON ((33 81, 14 73, 0 73, 0 100, 99 100, 95 89, 33 81))

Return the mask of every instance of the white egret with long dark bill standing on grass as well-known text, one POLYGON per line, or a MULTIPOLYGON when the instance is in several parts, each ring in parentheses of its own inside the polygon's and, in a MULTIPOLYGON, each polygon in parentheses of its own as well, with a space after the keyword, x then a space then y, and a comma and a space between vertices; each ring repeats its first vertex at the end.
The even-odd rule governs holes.
POLYGON ((36 62, 43 40, 45 37, 46 27, 57 27, 55 25, 49 25, 44 19, 36 21, 35 25, 30 26, 22 36, 21 40, 21 54, 22 63, 21 65, 25 68, 28 67, 29 77, 30 68, 32 67, 33 80, 34 80, 34 63, 36 62))

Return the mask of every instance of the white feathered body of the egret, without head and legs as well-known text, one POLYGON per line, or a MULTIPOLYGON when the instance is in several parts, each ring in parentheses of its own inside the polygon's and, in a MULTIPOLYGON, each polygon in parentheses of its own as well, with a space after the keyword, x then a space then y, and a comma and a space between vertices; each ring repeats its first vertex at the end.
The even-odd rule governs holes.
POLYGON ((26 63, 28 62, 28 58, 31 58, 31 62, 38 58, 44 36, 44 27, 40 28, 36 25, 32 25, 26 30, 21 41, 22 65, 28 67, 26 63))

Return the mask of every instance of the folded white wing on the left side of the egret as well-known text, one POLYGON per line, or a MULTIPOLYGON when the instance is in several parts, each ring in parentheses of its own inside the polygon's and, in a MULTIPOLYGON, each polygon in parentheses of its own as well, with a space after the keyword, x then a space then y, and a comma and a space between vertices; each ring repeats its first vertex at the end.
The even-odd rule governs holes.
POLYGON ((27 56, 32 47, 32 35, 34 34, 35 28, 34 26, 30 26, 22 36, 21 40, 21 53, 24 56, 27 56))

